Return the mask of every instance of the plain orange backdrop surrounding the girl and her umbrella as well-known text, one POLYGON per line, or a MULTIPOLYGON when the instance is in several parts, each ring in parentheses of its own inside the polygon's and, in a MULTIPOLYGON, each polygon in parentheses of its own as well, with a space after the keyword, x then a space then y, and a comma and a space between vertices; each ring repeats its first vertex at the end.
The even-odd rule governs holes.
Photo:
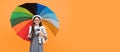
POLYGON ((1 0, 0 52, 29 52, 29 42, 16 35, 10 16, 18 5, 37 2, 51 8, 60 21, 56 37, 48 30, 45 52, 120 52, 120 1, 1 0))

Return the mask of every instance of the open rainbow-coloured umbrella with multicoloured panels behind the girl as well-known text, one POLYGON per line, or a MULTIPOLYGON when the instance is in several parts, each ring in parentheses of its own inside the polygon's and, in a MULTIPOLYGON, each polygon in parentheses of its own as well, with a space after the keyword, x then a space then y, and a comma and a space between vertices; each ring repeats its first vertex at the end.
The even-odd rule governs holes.
POLYGON ((29 26, 32 25, 32 17, 34 15, 40 15, 42 23, 56 35, 59 30, 59 20, 55 13, 47 6, 38 3, 25 3, 16 7, 10 18, 11 26, 18 36, 24 40, 28 40, 29 26))

